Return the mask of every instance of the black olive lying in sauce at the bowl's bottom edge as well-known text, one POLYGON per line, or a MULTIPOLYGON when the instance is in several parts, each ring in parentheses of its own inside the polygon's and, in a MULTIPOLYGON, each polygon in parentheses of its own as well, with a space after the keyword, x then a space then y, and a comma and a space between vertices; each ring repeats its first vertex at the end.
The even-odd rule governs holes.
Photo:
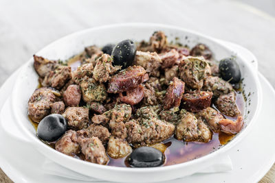
POLYGON ((139 147, 131 153, 129 164, 131 167, 159 167, 164 164, 164 154, 153 147, 139 147))

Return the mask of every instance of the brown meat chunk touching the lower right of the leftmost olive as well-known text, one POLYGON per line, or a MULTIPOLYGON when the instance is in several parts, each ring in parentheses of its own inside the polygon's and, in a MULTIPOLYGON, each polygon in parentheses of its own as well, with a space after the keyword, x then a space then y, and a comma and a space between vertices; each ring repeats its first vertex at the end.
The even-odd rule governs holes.
POLYGON ((63 154, 74 156, 80 153, 80 146, 77 143, 76 131, 68 130, 55 144, 55 149, 63 154))

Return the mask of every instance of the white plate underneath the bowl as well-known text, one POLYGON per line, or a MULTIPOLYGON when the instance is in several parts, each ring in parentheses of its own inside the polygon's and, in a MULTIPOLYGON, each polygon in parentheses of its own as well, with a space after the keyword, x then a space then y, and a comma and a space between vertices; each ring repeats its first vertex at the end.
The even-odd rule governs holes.
MULTIPOLYGON (((16 74, 5 82, 0 96, 10 93, 16 74)), ((270 115, 274 112, 275 91, 263 75, 259 73, 259 77, 265 91, 259 120, 243 141, 224 154, 232 159, 233 170, 226 173, 194 174, 170 182, 257 182, 267 173, 275 161, 275 123, 270 115)), ((0 103, 3 103, 3 97, 0 103)), ((12 127, 11 123, 12 121, 1 121, 0 165, 14 182, 81 182, 43 173, 41 164, 45 156, 31 145, 24 144, 3 131, 3 125, 7 127, 10 124, 8 126, 12 127)))

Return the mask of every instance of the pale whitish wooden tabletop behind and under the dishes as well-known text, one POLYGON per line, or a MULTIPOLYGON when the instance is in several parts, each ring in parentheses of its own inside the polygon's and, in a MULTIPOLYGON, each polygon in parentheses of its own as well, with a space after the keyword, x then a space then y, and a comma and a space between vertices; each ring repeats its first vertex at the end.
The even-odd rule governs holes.
MULTIPOLYGON (((252 51, 259 71, 275 86, 275 18, 239 1, 1 0, 0 86, 50 42, 111 23, 177 25, 236 42, 252 51)), ((0 182, 11 182, 0 171, 0 182)), ((275 182, 275 166, 261 182, 275 182)))

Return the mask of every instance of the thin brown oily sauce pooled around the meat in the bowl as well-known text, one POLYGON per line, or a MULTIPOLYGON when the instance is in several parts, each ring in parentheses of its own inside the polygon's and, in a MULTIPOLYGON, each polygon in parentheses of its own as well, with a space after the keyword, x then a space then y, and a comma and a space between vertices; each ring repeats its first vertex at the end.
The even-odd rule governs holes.
MULTIPOLYGON (((72 71, 76 70, 77 66, 81 64, 80 59, 83 57, 83 53, 78 54, 77 56, 74 56, 73 58, 67 60, 67 64, 69 66, 72 66, 72 71)), ((39 86, 40 88, 40 86, 39 86)), ((245 110, 245 100, 243 97, 243 94, 241 92, 241 89, 236 91, 236 105, 238 106, 239 110, 241 111, 241 114, 244 114, 245 110)), ((212 108, 217 108, 212 105, 212 108)), ((232 117, 227 117, 223 115, 227 119, 236 120, 232 117)), ((30 119, 30 117, 29 117, 30 119)), ((37 130, 38 123, 33 122, 30 119, 32 125, 34 126, 34 129, 37 130)), ((165 163, 163 166, 168 166, 172 164, 179 164, 182 162, 187 162, 190 160, 194 160, 196 158, 200 158, 202 156, 206 156, 213 151, 216 151, 217 149, 221 148, 223 145, 226 145, 229 141, 234 138, 234 135, 228 135, 223 132, 219 133, 213 133, 212 140, 208 143, 200 143, 200 142, 184 142, 179 141, 174 137, 170 137, 166 139, 165 141, 162 141, 165 145, 167 145, 166 151, 164 152, 165 155, 165 163)), ((55 143, 45 143, 49 145, 50 147, 54 148, 55 143)), ((78 158, 83 160, 83 155, 74 156, 74 158, 78 158)), ((127 156, 124 158, 119 159, 113 159, 109 157, 110 160, 107 165, 113 166, 113 167, 129 167, 129 164, 127 163, 127 156)))

